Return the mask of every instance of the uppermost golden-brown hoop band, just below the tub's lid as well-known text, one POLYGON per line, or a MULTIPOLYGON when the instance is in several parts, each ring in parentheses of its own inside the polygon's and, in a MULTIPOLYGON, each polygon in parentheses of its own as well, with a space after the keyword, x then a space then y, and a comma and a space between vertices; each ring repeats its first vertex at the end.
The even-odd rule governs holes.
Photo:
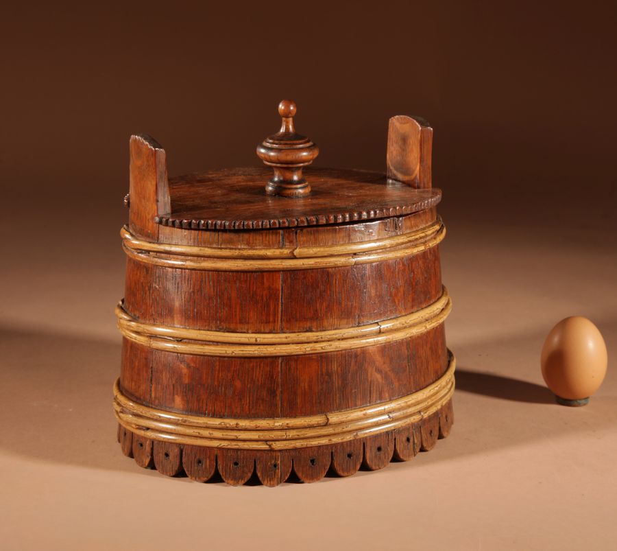
POLYGON ((128 257, 185 270, 231 272, 311 270, 392 260, 415 255, 439 244, 446 226, 437 220, 418 231, 343 245, 295 248, 217 248, 156 243, 138 239, 125 226, 120 235, 128 257))

